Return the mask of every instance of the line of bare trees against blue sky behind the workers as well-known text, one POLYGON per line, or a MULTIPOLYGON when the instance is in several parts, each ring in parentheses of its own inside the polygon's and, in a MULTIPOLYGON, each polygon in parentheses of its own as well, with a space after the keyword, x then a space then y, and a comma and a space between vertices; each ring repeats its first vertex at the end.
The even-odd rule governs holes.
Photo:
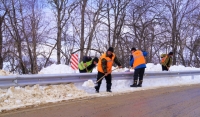
POLYGON ((199 0, 0 0, 0 69, 19 74, 110 46, 124 67, 132 47, 148 63, 172 51, 174 65, 200 67, 199 35, 199 0))

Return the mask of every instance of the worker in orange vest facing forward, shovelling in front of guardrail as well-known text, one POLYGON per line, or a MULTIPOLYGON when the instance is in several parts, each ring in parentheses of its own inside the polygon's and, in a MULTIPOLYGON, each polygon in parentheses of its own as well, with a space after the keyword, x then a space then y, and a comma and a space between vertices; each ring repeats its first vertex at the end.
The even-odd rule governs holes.
MULTIPOLYGON (((112 47, 109 47, 107 52, 105 52, 99 58, 99 62, 97 66, 97 70, 98 70, 97 81, 105 75, 107 92, 112 92, 111 91, 111 86, 112 86, 111 73, 112 73, 113 62, 115 62, 119 68, 122 67, 121 63, 119 62, 118 58, 113 52, 114 52, 114 49, 112 47)), ((101 82, 102 82, 102 79, 99 80, 97 86, 95 86, 97 93, 99 93, 101 82)))

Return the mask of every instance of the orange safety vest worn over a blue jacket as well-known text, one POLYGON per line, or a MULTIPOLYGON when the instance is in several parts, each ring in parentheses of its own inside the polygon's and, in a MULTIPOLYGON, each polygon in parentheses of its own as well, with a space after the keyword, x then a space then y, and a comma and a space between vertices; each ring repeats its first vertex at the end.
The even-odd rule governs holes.
POLYGON ((136 68, 137 66, 139 66, 141 64, 146 64, 144 55, 143 55, 142 51, 140 51, 140 50, 136 50, 135 52, 133 52, 133 58, 134 58, 133 68, 136 68))

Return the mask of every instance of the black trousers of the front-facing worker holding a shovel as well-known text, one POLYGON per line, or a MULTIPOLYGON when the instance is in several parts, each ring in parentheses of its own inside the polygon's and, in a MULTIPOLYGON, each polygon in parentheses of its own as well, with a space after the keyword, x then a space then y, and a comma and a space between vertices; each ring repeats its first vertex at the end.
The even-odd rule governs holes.
MULTIPOLYGON (((101 73, 101 72, 98 72, 97 73, 97 81, 102 78, 105 74, 104 73, 101 73)), ((111 89, 111 85, 112 85, 112 75, 111 74, 108 74, 107 76, 105 76, 105 79, 106 79, 106 88, 107 88, 107 91, 111 89)), ((98 82, 98 86, 97 86, 97 89, 96 90, 99 90, 100 86, 101 86, 101 83, 102 83, 102 80, 103 78, 98 82)))

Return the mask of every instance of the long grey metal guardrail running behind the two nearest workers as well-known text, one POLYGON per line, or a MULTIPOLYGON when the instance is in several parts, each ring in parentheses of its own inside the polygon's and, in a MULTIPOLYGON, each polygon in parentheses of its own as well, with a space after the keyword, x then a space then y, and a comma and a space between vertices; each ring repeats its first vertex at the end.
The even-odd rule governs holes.
MULTIPOLYGON (((134 72, 113 72, 113 80, 132 79, 134 72)), ((11 86, 32 86, 62 84, 62 83, 78 83, 89 79, 96 81, 97 73, 70 73, 70 74, 43 74, 43 75, 16 75, 16 76, 0 76, 0 88, 8 88, 11 86)), ((194 76, 200 75, 200 70, 193 71, 147 71, 144 78, 163 78, 166 76, 194 76)))

